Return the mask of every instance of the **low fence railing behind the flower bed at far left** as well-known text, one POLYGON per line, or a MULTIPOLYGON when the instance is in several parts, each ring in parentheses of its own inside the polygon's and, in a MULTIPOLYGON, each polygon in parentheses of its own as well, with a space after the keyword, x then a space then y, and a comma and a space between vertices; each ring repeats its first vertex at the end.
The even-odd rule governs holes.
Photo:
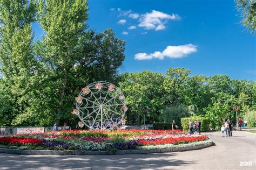
MULTIPOLYGON (((31 132, 51 132, 53 130, 53 126, 48 127, 2 127, 0 128, 0 136, 8 136, 17 133, 31 133, 31 132)), ((71 130, 70 126, 59 126, 57 127, 57 131, 71 130)))

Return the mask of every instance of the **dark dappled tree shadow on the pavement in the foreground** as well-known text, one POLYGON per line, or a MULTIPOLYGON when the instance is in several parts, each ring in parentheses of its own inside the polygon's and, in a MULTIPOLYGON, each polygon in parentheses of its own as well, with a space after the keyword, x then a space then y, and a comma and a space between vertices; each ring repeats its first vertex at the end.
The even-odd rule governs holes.
POLYGON ((195 164, 192 161, 173 159, 176 153, 131 155, 14 155, 0 154, 0 169, 26 168, 93 168, 118 169, 165 168, 195 164))

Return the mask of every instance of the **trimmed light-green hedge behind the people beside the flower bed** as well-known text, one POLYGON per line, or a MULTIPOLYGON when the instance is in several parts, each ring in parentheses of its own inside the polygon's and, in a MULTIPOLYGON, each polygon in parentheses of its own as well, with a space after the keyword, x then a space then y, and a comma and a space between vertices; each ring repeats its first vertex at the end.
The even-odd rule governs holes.
POLYGON ((210 127, 209 119, 207 119, 205 117, 201 117, 201 116, 193 116, 193 117, 181 118, 181 126, 182 126, 184 131, 187 131, 187 132, 189 131, 189 129, 190 129, 190 125, 189 125, 190 120, 192 122, 195 122, 195 121, 198 121, 198 120, 201 122, 201 132, 205 132, 205 131, 209 130, 209 127, 210 127))

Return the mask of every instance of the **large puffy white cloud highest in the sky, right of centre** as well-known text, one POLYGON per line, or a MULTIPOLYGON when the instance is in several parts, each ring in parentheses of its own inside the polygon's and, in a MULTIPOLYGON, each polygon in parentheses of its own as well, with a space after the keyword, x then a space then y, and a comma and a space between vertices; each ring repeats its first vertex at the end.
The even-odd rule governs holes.
POLYGON ((179 15, 173 14, 169 15, 160 11, 152 10, 151 13, 145 13, 139 19, 139 27, 144 27, 146 30, 164 30, 167 20, 178 20, 180 19, 179 15))

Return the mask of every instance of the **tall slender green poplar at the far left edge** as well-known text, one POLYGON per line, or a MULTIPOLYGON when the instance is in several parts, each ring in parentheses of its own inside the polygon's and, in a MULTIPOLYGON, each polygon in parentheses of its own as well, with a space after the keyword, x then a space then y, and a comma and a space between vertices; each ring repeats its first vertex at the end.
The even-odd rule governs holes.
POLYGON ((12 104, 12 109, 5 110, 4 114, 11 119, 24 112, 29 104, 23 96, 30 91, 29 80, 37 62, 32 54, 31 22, 35 20, 35 14, 36 1, 0 1, 2 85, 5 100, 8 105, 12 104))

